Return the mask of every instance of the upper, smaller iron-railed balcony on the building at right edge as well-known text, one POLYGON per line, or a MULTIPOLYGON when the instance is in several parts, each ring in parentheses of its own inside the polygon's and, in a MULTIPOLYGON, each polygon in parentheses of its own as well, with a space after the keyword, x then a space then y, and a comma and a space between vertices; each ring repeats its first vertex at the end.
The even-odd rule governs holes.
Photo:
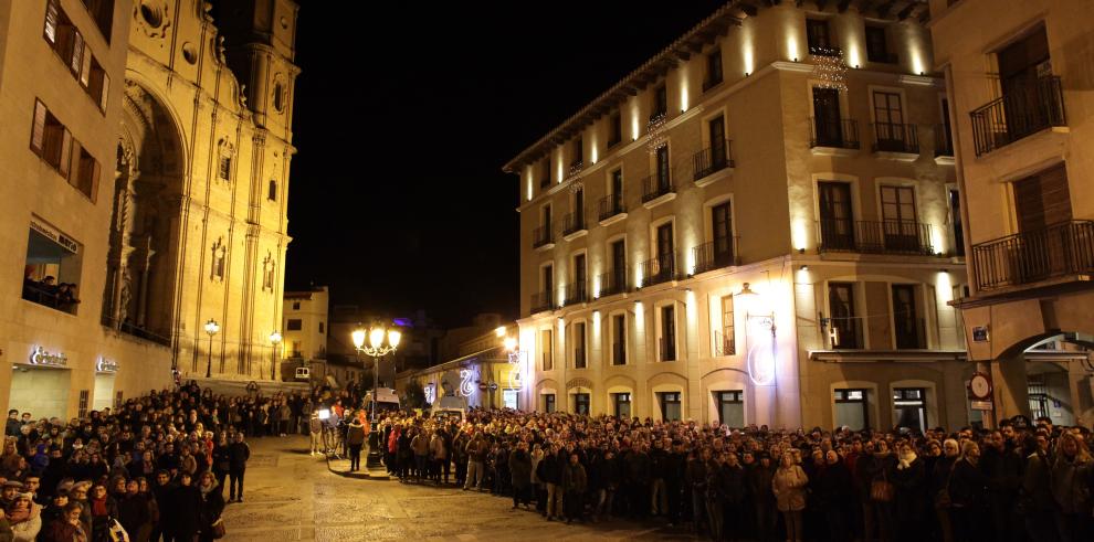
POLYGON ((969 116, 978 157, 1045 128, 1067 124, 1063 88, 1056 75, 1023 82, 969 116))

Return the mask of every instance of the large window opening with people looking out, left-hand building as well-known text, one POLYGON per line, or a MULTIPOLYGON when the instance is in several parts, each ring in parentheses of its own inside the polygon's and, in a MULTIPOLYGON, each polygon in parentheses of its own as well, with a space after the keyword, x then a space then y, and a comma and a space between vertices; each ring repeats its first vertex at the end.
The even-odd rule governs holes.
POLYGON ((38 219, 31 219, 23 275, 23 299, 76 313, 80 305, 81 245, 38 219))

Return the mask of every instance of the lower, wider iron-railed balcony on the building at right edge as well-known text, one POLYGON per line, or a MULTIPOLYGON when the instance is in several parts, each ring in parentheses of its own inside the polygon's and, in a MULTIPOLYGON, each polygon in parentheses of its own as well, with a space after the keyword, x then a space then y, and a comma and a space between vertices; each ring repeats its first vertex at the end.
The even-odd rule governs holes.
POLYGON ((1071 221, 972 245, 981 290, 1094 273, 1094 221, 1071 221))

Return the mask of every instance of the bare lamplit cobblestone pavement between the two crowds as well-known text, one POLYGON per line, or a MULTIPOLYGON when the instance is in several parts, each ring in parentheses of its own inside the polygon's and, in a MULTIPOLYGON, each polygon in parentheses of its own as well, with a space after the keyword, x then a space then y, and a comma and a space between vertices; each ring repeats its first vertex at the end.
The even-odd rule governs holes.
MULTIPOLYGON (((250 444, 245 500, 224 511, 223 540, 232 542, 694 540, 660 522, 567 525, 534 511, 509 510, 512 500, 487 493, 347 478, 309 456, 305 437, 250 444)), ((348 467, 339 463, 336 468, 343 465, 348 467)))

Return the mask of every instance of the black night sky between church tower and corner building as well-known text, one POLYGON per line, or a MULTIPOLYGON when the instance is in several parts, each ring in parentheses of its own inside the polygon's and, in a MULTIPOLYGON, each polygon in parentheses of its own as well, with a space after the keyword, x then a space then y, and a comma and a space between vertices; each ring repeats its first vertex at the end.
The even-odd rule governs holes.
POLYGON ((724 2, 299 3, 286 289, 460 326, 517 316, 502 166, 724 2))

